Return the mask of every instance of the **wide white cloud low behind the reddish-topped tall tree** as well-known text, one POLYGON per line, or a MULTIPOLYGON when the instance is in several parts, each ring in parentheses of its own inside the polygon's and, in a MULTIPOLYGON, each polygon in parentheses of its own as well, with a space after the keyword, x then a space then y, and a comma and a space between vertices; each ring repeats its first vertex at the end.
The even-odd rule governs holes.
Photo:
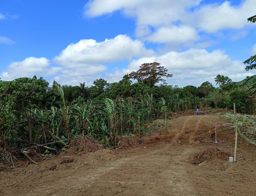
POLYGON ((220 74, 228 76, 233 81, 243 80, 246 76, 252 76, 253 73, 246 72, 242 62, 232 60, 224 51, 215 50, 208 52, 205 49, 189 49, 184 52, 170 51, 160 56, 151 56, 132 60, 127 68, 108 75, 116 80, 121 80, 132 71, 137 71, 141 64, 158 62, 168 69, 168 73, 173 74, 172 78, 167 80, 168 84, 180 87, 187 85, 200 86, 205 81, 215 85, 214 78, 220 74))

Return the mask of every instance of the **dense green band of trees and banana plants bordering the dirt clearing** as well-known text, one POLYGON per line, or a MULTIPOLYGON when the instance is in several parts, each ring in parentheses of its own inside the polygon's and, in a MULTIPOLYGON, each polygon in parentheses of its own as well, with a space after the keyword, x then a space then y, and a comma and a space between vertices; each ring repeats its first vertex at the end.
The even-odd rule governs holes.
POLYGON ((250 88, 237 86, 224 76, 216 76, 218 88, 208 81, 199 87, 179 88, 156 85, 157 80, 148 82, 145 78, 134 84, 128 75, 111 84, 99 79, 91 87, 85 83, 61 86, 56 81, 49 87, 46 80, 36 76, 0 81, 1 148, 54 141, 68 144, 79 135, 116 147, 119 137, 129 133, 140 136, 147 131, 147 124, 159 118, 166 120, 173 112, 232 109, 233 103, 238 112, 254 111, 250 88))

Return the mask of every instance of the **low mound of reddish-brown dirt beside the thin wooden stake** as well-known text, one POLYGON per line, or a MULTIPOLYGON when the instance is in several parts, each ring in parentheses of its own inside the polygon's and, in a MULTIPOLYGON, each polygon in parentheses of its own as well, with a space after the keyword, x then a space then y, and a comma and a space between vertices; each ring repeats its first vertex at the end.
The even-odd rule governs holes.
POLYGON ((196 153, 191 163, 194 165, 203 163, 204 161, 228 160, 230 153, 223 152, 219 148, 207 148, 204 152, 196 153))

